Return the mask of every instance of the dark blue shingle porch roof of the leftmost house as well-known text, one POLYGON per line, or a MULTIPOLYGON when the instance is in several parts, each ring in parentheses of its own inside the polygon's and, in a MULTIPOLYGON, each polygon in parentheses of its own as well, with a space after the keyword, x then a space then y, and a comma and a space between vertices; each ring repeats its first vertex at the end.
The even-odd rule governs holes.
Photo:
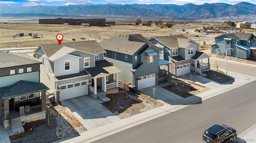
POLYGON ((44 90, 49 90, 49 88, 42 83, 20 80, 10 86, 0 88, 0 97, 10 98, 44 90))

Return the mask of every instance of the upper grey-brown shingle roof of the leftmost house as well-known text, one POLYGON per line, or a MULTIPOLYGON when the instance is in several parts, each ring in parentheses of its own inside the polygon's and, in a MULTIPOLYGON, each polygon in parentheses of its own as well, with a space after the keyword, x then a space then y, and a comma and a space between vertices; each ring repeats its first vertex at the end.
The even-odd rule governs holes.
POLYGON ((20 65, 40 64, 41 62, 23 53, 11 53, 0 51, 0 68, 15 67, 20 65))

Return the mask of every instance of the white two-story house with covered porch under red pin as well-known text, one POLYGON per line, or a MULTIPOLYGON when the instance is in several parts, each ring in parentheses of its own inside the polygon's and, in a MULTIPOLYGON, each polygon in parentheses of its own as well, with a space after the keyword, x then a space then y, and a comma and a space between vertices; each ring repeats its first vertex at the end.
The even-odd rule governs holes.
POLYGON ((103 59, 106 51, 96 41, 44 44, 35 53, 42 61, 41 81, 57 101, 118 92, 120 71, 103 59))

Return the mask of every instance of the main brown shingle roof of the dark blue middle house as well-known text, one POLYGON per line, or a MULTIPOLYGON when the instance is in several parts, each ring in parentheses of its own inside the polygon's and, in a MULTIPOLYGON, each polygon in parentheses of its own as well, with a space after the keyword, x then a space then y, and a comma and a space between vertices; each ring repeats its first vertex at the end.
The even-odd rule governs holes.
POLYGON ((159 49, 140 34, 118 35, 110 39, 100 41, 99 44, 108 51, 115 51, 127 55, 133 55, 144 45, 150 45, 155 49, 159 49))

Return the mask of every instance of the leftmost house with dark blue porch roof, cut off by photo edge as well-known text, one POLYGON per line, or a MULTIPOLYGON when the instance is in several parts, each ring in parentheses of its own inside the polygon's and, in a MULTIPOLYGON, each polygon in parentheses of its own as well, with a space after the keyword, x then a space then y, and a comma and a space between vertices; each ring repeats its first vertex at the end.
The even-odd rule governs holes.
POLYGON ((0 124, 11 134, 24 132, 22 122, 46 118, 46 90, 40 64, 28 54, 0 51, 0 124))

